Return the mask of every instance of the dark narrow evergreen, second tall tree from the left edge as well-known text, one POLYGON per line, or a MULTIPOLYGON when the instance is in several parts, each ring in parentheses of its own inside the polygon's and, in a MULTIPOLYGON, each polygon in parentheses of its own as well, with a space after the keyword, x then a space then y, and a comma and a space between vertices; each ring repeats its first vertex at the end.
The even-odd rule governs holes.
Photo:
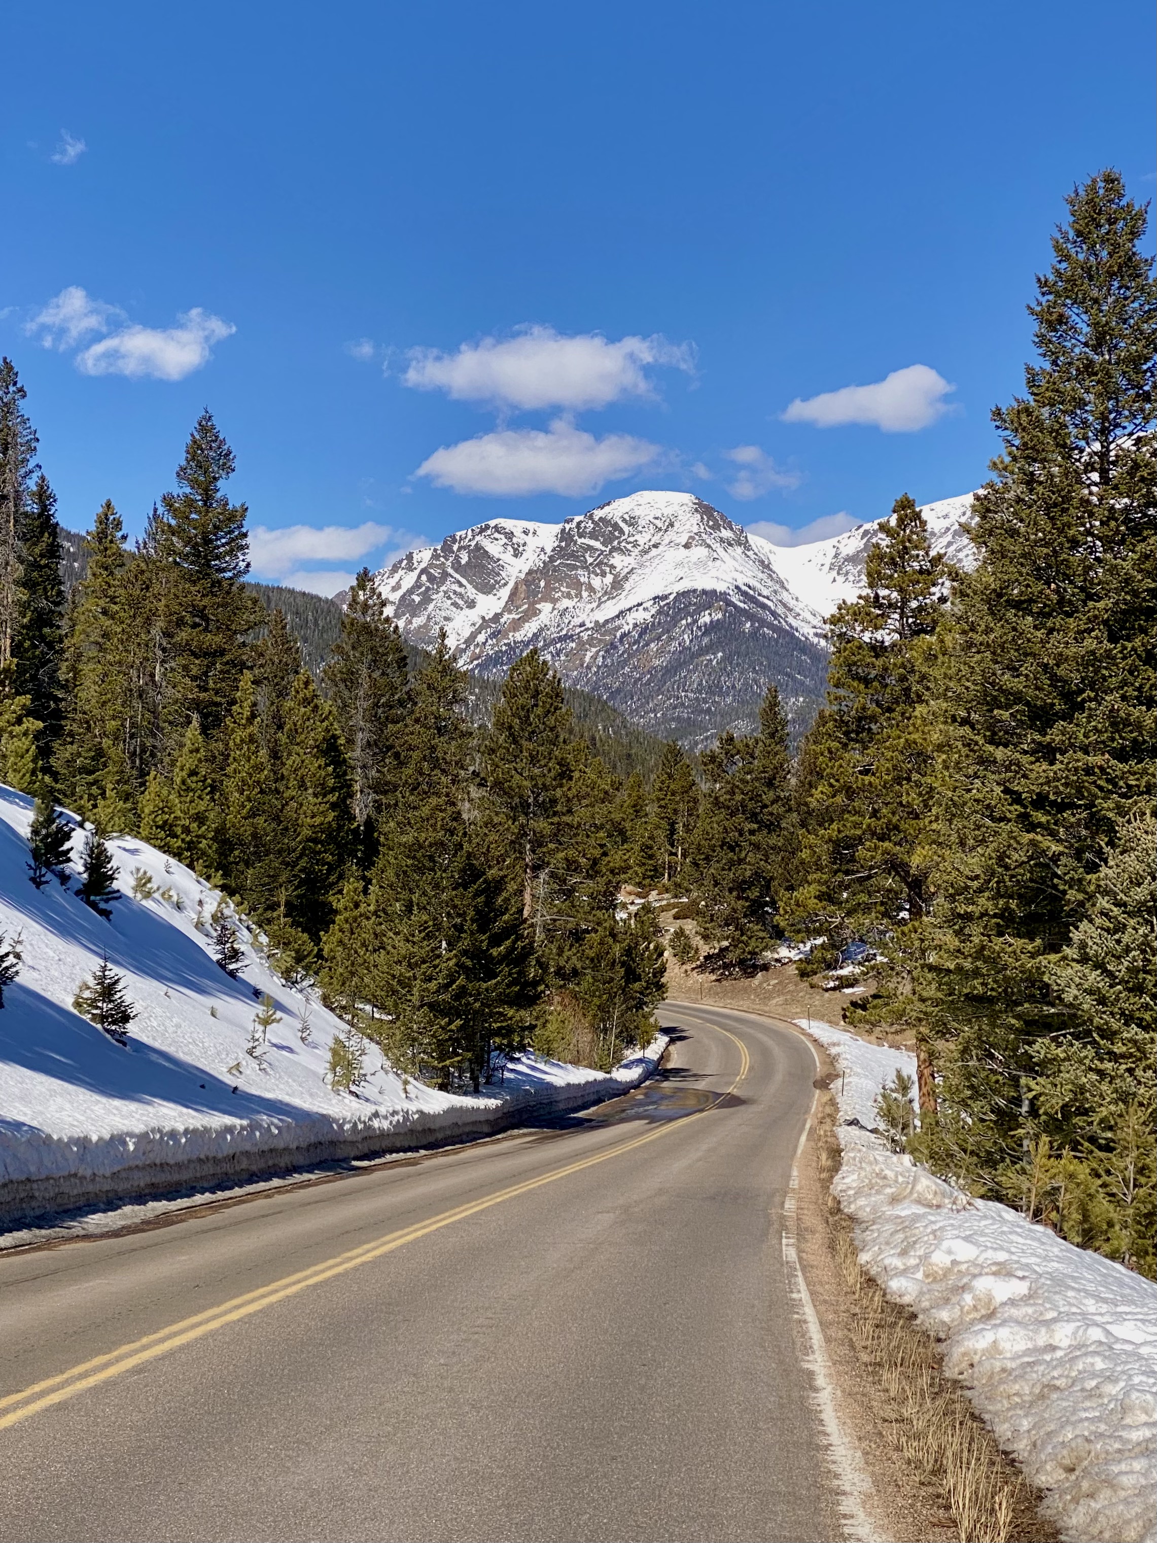
POLYGON ((56 494, 43 472, 25 503, 20 594, 14 643, 15 690, 29 699, 29 713, 42 725, 40 748, 48 751, 60 736, 60 668, 65 588, 60 574, 60 526, 56 494))

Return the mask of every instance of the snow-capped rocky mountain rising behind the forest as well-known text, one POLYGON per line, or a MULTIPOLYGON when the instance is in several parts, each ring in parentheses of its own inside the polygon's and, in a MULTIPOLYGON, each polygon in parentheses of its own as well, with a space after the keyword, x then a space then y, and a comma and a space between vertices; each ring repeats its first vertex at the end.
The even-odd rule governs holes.
MULTIPOLYGON (((953 555, 969 501, 927 509, 953 555)), ((693 494, 637 492, 562 525, 487 520, 407 552, 378 582, 410 642, 430 647, 444 628, 483 674, 537 647, 569 685, 700 744, 753 725, 768 680, 810 717, 824 617, 861 586, 873 539, 861 525, 773 546, 693 494)))

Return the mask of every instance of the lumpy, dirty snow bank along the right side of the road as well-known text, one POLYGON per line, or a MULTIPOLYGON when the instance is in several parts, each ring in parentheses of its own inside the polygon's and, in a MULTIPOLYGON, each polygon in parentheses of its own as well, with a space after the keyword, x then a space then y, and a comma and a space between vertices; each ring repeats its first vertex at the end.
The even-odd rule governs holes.
POLYGON ((864 1268, 944 1341, 946 1370, 1068 1543, 1152 1543, 1157 1287, 890 1153, 875 1097, 898 1069, 915 1082, 915 1057, 815 1020, 810 1032, 844 1072, 842 1120, 869 1126, 841 1123, 833 1183, 864 1268))

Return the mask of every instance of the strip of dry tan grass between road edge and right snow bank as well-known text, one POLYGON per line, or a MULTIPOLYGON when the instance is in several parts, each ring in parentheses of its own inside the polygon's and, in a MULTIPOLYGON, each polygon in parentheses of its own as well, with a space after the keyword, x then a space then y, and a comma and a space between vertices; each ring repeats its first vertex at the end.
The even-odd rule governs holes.
POLYGON ((879 1423, 906 1467, 943 1501, 961 1543, 1055 1538, 1037 1494, 997 1446, 960 1384, 944 1376, 935 1341, 861 1268, 852 1225, 830 1193, 839 1146, 830 1125, 819 1167, 833 1245, 852 1298, 852 1332, 869 1379, 881 1389, 879 1423))

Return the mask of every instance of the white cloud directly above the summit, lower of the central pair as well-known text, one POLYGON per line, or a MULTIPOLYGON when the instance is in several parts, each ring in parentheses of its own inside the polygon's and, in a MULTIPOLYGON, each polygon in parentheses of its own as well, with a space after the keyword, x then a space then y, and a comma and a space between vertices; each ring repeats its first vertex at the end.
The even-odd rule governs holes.
POLYGON ((438 488, 495 497, 558 492, 568 497, 599 492, 606 481, 649 466, 657 444, 629 434, 595 440, 566 418, 549 429, 500 429, 461 444, 443 446, 427 457, 415 477, 429 477, 438 488))

